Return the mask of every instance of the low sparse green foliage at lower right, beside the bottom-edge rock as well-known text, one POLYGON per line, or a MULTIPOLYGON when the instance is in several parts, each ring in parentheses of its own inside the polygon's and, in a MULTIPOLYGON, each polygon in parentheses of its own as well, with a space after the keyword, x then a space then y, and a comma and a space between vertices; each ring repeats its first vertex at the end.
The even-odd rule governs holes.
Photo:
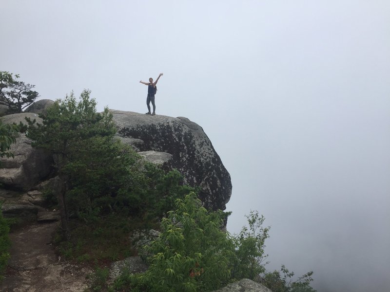
POLYGON ((280 271, 273 271, 264 275, 262 283, 273 292, 315 292, 310 283, 312 282, 313 272, 308 272, 297 280, 292 281, 294 272, 290 272, 285 265, 282 265, 280 271))

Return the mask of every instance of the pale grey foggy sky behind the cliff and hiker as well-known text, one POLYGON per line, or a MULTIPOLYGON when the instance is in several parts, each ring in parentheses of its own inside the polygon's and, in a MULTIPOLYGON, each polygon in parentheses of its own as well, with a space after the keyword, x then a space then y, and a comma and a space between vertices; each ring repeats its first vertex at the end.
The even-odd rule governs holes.
POLYGON ((269 270, 319 292, 390 287, 388 0, 1 0, 0 70, 40 99, 185 116, 232 176, 237 233, 271 225, 269 270))

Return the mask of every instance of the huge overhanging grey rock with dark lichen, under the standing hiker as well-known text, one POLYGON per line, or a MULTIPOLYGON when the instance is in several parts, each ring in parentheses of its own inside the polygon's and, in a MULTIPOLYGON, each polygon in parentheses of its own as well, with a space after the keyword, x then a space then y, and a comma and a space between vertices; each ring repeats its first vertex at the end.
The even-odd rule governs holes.
POLYGON ((140 139, 140 151, 166 152, 169 161, 184 176, 186 183, 200 186, 200 199, 208 209, 226 208, 232 194, 229 172, 203 131, 184 117, 145 115, 111 110, 123 138, 140 139))

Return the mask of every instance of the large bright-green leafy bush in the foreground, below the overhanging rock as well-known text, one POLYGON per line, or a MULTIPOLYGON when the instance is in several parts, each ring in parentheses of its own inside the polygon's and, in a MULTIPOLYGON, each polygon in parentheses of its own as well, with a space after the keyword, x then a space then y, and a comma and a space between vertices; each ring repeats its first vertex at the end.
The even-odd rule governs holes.
POLYGON ((147 272, 118 279, 132 291, 211 291, 230 280, 234 245, 223 232, 224 213, 209 213, 194 192, 176 200, 161 220, 161 234, 145 246, 147 272))

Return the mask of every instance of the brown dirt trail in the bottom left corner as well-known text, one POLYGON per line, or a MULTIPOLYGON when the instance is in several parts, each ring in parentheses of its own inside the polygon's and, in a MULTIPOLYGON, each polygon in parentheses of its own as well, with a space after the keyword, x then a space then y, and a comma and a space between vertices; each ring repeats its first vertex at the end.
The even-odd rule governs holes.
POLYGON ((90 268, 62 260, 51 244, 59 222, 34 223, 11 232, 11 258, 2 292, 82 292, 90 268))

